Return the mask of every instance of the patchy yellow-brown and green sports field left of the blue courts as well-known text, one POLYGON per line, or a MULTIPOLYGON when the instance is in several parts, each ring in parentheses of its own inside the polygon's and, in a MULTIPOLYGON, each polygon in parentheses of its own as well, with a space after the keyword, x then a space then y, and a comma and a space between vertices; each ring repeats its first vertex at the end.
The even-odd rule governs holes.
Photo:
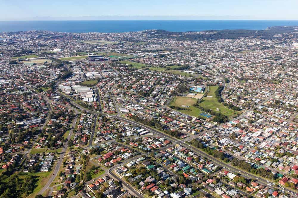
POLYGON ((178 110, 181 113, 185 113, 187 115, 191 115, 194 117, 198 117, 202 111, 198 109, 197 107, 194 107, 193 104, 197 102, 198 99, 195 98, 188 98, 188 97, 182 97, 182 96, 175 96, 172 102, 170 103, 169 106, 173 105, 176 107, 181 107, 181 105, 187 105, 190 106, 189 110, 178 110))

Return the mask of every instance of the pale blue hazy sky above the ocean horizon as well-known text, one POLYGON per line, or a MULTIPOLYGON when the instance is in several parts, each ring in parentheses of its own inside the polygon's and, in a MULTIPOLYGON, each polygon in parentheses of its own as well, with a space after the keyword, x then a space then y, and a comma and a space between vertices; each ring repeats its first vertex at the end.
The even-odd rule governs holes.
POLYGON ((298 20, 298 0, 0 0, 0 20, 298 20))

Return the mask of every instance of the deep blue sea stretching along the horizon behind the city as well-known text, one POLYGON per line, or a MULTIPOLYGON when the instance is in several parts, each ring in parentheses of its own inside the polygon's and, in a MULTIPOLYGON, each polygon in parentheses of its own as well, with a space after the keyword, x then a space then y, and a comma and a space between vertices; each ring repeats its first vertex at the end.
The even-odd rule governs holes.
POLYGON ((49 30, 55 32, 131 32, 149 29, 203 31, 223 29, 263 30, 270 26, 298 26, 298 20, 69 20, 0 21, 0 32, 49 30))

